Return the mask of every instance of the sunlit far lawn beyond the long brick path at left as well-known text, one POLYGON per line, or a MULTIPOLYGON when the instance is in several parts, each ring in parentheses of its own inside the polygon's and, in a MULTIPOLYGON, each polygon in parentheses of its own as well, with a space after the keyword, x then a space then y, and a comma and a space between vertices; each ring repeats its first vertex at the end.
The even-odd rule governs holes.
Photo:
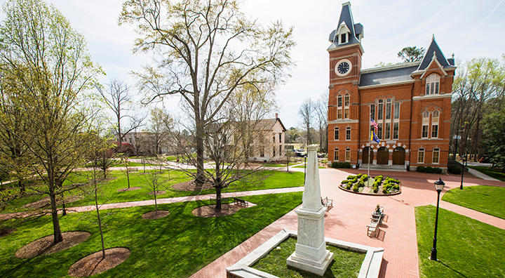
MULTIPOLYGON (((154 170, 152 170, 154 171, 154 170)), ((156 170, 157 171, 157 170, 156 170)), ((148 171, 149 172, 149 171, 148 171)), ((229 187, 225 188, 222 192, 240 192, 240 191, 250 191, 250 190, 265 190, 265 189, 274 189, 274 188, 283 188, 283 187, 299 187, 303 186, 304 174, 298 172, 284 173, 279 171, 263 171, 259 175, 264 178, 260 183, 244 183, 244 182, 236 182, 229 185, 229 187)), ((111 171, 109 173, 109 177, 112 180, 109 180, 107 184, 102 185, 100 187, 100 203, 119 203, 125 201, 142 201, 142 200, 150 200, 154 199, 152 195, 147 193, 152 192, 152 188, 147 185, 147 178, 149 175, 144 174, 143 171, 130 173, 130 187, 142 187, 140 190, 126 191, 126 192, 117 192, 117 190, 121 188, 128 187, 128 181, 126 175, 122 171, 111 171)), ((77 172, 69 178, 68 183, 83 183, 87 180, 86 172, 77 172)), ((172 185, 177 183, 182 183, 187 180, 191 180, 184 173, 177 171, 165 171, 161 175, 161 180, 163 180, 163 187, 160 187, 159 190, 165 190, 166 193, 159 194, 156 198, 171 198, 171 197, 183 197, 183 196, 191 196, 198 194, 215 194, 214 189, 210 190, 201 190, 201 191, 180 191, 173 190, 171 188, 172 185)), ((17 190, 17 189, 13 189, 17 190)), ((84 196, 83 199, 78 201, 74 201, 70 204, 67 204, 68 207, 72 206, 88 206, 90 204, 94 204, 93 196, 90 194, 83 194, 81 190, 73 190, 65 194, 69 195, 81 195, 84 196)), ((42 196, 45 197, 46 195, 42 196)), ((11 206, 8 206, 1 213, 8 213, 13 211, 23 211, 22 206, 32 201, 37 201, 41 199, 41 196, 36 195, 32 197, 24 197, 22 199, 17 199, 11 203, 11 206)))

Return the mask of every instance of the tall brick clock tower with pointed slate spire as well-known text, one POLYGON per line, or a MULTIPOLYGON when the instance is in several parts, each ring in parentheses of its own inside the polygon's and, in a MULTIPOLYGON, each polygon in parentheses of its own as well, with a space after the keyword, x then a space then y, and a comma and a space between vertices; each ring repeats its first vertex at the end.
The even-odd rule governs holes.
POLYGON ((363 25, 354 23, 351 3, 342 4, 337 29, 330 33, 328 161, 358 161, 363 25))

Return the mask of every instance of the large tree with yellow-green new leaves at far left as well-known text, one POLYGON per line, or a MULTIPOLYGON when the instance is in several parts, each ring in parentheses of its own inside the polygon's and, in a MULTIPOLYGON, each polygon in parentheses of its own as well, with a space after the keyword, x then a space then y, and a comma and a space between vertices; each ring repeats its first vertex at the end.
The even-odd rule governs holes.
POLYGON ((86 51, 86 42, 63 15, 41 0, 9 0, 0 26, 0 65, 11 73, 6 98, 23 112, 22 130, 8 129, 27 147, 32 171, 43 181, 37 192, 50 197, 54 242, 62 241, 56 196, 71 188, 58 186, 86 161, 88 115, 80 93, 102 73, 86 51))

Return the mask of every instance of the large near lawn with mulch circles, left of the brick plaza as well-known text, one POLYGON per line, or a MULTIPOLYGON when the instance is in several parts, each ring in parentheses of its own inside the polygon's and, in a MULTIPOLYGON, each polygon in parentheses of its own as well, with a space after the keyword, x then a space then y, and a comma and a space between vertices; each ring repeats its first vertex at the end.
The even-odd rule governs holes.
MULTIPOLYGON (((121 265, 94 277, 189 277, 233 249, 274 220, 301 204, 302 192, 243 197, 257 206, 231 216, 198 218, 191 214, 204 201, 162 204, 166 218, 144 220, 154 206, 102 211, 105 246, 126 247, 130 257, 121 265), (260 217, 261 216, 261 217, 260 217)), ((15 251, 35 239, 52 234, 50 217, 39 218, 0 238, 0 277, 68 277, 69 267, 100 251, 100 232, 93 213, 71 213, 60 218, 62 230, 86 230, 92 235, 82 244, 48 256, 22 260, 15 251)))

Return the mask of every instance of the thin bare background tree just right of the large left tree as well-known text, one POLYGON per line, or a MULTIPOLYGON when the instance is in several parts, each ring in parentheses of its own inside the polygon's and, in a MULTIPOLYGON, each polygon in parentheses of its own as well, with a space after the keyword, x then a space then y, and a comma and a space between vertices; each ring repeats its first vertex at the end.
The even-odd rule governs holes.
POLYGON ((107 91, 104 91, 100 86, 96 88, 98 93, 102 96, 103 102, 105 102, 107 107, 114 113, 114 125, 116 126, 119 145, 121 145, 126 134, 142 126, 142 121, 144 121, 146 116, 140 117, 138 115, 127 114, 127 112, 133 110, 133 105, 130 87, 123 81, 112 79, 109 81, 107 91), (127 128, 121 126, 121 121, 123 121, 123 119, 129 120, 127 128))

